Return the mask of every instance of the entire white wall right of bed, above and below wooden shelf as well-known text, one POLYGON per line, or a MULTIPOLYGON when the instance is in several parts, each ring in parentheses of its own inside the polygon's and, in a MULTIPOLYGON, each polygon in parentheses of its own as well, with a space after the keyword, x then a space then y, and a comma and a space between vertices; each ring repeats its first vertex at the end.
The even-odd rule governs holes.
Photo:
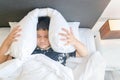
POLYGON ((120 39, 101 40, 99 29, 108 19, 120 19, 120 0, 111 0, 106 7, 97 23, 92 28, 92 32, 96 35, 96 46, 101 51, 108 65, 120 67, 120 39))

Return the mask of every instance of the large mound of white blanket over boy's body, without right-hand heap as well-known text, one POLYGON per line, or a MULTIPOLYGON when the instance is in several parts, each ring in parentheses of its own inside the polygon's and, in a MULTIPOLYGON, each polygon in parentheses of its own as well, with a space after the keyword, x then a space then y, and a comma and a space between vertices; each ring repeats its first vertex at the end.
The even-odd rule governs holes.
POLYGON ((42 54, 14 59, 0 66, 0 80, 74 80, 70 68, 42 54))

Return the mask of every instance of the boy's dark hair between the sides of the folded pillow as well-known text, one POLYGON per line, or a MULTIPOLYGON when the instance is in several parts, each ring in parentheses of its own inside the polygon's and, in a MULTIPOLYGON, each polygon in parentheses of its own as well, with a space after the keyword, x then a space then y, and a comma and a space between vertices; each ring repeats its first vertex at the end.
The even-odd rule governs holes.
POLYGON ((39 17, 38 18, 38 24, 37 24, 37 30, 49 30, 49 23, 50 23, 50 17, 39 17))

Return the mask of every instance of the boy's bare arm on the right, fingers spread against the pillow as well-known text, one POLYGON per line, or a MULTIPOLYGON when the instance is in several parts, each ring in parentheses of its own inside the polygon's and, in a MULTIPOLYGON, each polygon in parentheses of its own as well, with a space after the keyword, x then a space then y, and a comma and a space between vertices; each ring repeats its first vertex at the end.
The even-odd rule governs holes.
POLYGON ((61 36, 65 37, 61 39, 63 41, 66 41, 65 45, 73 45, 76 49, 77 56, 81 56, 81 57, 87 56, 88 50, 86 46, 75 38, 72 32, 72 29, 70 28, 70 31, 68 31, 62 28, 62 30, 66 33, 66 34, 60 33, 61 36))

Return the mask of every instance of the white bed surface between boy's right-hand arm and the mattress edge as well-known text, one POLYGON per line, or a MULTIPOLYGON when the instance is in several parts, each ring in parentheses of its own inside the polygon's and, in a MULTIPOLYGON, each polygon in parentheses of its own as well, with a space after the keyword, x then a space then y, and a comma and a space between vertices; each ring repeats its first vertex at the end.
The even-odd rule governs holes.
POLYGON ((96 52, 95 39, 89 28, 79 28, 80 41, 87 47, 89 54, 96 52))

